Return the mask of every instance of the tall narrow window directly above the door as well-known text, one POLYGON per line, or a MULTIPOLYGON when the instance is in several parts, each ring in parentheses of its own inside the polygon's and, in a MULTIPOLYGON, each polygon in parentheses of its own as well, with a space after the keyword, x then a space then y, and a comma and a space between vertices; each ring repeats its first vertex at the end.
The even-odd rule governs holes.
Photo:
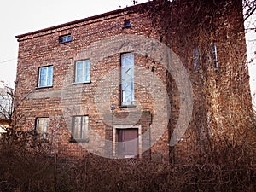
POLYGON ((121 55, 121 105, 134 104, 134 54, 121 55))

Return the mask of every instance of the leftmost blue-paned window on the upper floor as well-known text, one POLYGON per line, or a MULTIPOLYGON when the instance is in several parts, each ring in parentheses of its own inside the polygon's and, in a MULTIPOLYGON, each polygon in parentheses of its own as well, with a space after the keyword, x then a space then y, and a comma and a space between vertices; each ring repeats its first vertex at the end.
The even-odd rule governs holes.
POLYGON ((52 86, 52 82, 53 82, 53 67, 52 66, 40 67, 38 87, 52 86))

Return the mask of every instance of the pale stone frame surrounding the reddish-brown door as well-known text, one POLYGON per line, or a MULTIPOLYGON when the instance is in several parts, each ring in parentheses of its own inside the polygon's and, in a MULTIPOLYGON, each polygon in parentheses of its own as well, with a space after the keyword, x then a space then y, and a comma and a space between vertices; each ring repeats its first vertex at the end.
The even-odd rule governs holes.
POLYGON ((143 137, 142 125, 113 125, 113 157, 118 157, 116 154, 118 138, 116 137, 117 129, 137 129, 138 133, 138 157, 143 155, 143 137))

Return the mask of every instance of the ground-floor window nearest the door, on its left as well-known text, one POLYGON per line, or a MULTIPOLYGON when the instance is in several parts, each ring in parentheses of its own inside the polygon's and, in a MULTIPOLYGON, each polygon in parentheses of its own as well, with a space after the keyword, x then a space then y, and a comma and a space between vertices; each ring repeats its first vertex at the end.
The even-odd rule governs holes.
POLYGON ((89 118, 88 116, 74 116, 72 118, 72 136, 74 140, 88 140, 89 118))

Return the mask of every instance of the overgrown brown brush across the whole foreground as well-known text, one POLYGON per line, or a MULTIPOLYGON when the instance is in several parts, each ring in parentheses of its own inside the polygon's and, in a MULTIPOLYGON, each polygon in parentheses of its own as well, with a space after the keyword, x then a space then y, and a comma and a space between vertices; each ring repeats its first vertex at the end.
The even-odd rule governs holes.
POLYGON ((23 145, 27 147, 22 140, 1 145, 0 192, 256 189, 255 154, 248 154, 242 146, 215 147, 218 158, 212 161, 171 165, 150 160, 109 160, 94 154, 82 160, 64 160, 49 155, 38 140, 32 145, 34 149, 23 145))

